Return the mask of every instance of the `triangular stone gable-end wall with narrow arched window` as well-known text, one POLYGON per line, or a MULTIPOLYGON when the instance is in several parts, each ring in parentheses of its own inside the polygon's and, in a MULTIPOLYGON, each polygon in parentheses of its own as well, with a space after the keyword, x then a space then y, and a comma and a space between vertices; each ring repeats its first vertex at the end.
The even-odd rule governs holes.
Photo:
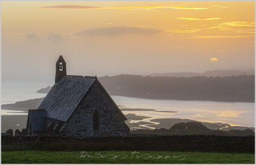
POLYGON ((65 127, 67 135, 75 136, 123 136, 129 132, 124 119, 98 83, 94 83, 65 127), (99 120, 93 118, 95 111, 99 113, 99 120))

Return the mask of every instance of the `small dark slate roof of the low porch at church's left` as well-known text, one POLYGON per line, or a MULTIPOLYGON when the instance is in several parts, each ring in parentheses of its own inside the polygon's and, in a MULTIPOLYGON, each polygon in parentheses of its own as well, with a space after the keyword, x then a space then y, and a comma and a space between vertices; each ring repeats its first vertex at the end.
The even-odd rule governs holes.
POLYGON ((29 110, 28 117, 32 131, 46 131, 45 110, 29 110))

